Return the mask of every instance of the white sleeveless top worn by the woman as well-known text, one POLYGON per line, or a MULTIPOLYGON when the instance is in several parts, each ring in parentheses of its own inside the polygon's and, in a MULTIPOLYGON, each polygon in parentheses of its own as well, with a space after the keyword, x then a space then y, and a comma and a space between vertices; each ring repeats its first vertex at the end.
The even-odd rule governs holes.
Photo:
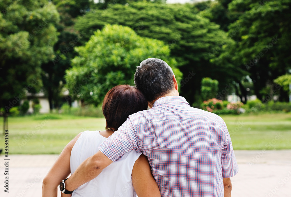
MULTIPOLYGON (((106 139, 99 131, 84 131, 72 148, 71 174, 86 158, 97 153, 106 139)), ((135 197, 131 173, 141 154, 135 150, 126 153, 103 169, 96 178, 75 189, 72 197, 135 197)))

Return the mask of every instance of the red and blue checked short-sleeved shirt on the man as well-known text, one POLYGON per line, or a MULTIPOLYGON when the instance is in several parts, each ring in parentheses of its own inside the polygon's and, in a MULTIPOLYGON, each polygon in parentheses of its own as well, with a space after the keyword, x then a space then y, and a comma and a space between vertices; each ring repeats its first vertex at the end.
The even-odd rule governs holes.
POLYGON ((222 178, 238 172, 222 118, 179 96, 159 98, 151 109, 130 115, 99 149, 112 161, 142 151, 162 197, 223 197, 222 178))

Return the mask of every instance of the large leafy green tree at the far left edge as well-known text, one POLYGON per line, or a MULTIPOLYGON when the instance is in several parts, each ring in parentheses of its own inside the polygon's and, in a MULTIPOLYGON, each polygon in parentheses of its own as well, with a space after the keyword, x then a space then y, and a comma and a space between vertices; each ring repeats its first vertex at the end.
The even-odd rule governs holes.
POLYGON ((0 1, 0 107, 19 105, 42 86, 41 64, 54 58, 56 7, 46 0, 0 1))

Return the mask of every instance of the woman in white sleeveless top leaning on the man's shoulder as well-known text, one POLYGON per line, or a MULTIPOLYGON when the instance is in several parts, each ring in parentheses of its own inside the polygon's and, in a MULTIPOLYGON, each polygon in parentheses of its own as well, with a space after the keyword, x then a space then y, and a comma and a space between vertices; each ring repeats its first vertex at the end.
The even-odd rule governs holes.
MULTIPOLYGON (((74 173, 88 157, 94 155, 104 142, 129 115, 147 109, 147 100, 134 86, 113 87, 104 97, 102 111, 106 119, 106 130, 79 133, 62 151, 42 184, 42 196, 57 196, 60 185, 65 190, 65 178, 74 173), (61 182, 61 184, 60 184, 61 182)), ((148 159, 142 153, 131 151, 105 168, 95 179, 72 192, 72 196, 99 197, 160 197, 157 183, 152 176, 148 159)))

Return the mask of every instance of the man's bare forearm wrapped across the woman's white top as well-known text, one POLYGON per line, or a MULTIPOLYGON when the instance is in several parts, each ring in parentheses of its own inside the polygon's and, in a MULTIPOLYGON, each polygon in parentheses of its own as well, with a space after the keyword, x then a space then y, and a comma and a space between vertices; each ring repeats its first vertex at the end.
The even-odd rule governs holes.
POLYGON ((97 177, 112 161, 101 151, 84 160, 65 182, 66 190, 73 191, 86 182, 97 177))

